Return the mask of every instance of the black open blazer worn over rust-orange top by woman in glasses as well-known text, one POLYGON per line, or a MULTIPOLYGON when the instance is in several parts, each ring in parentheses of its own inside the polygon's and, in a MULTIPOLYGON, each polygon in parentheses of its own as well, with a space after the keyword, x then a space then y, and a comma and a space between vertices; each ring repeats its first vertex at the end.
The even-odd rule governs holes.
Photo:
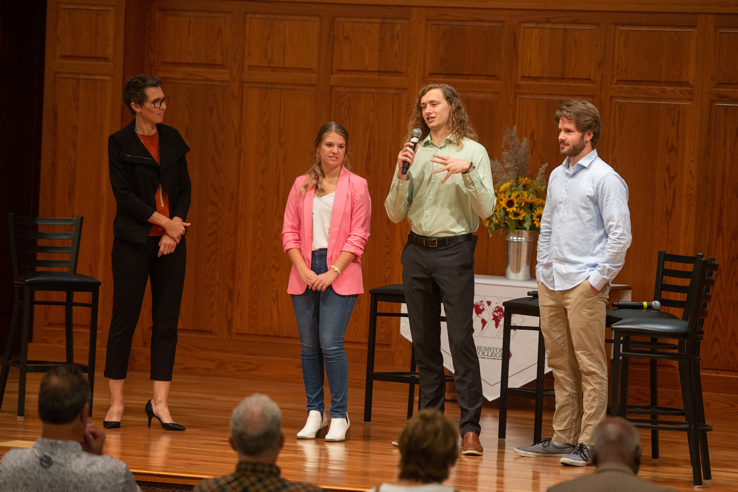
POLYGON ((116 238, 145 243, 151 232, 148 218, 156 212, 154 195, 159 182, 169 195, 169 218, 187 222, 191 183, 187 172, 190 151, 184 139, 167 125, 156 125, 159 132, 159 164, 136 135, 134 123, 108 138, 110 184, 117 202, 113 233, 116 238))

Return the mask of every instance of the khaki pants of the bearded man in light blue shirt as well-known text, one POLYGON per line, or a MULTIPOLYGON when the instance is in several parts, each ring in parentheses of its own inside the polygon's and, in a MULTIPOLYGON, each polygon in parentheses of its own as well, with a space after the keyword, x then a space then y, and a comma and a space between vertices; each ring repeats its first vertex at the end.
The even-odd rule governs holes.
POLYGON ((595 427, 607 413, 604 317, 609 294, 607 284, 594 296, 589 279, 565 291, 538 283, 541 332, 554 373, 556 443, 592 446, 595 427))

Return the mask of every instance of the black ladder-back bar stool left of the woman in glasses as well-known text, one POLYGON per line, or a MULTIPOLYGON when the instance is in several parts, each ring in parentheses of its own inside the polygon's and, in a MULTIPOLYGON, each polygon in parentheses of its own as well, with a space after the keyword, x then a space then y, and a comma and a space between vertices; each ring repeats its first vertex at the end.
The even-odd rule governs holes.
MULTIPOLYGON (((7 336, 5 356, 0 370, 0 408, 5 395, 5 384, 10 367, 18 367, 18 417, 25 415, 26 373, 45 373, 58 364, 72 364, 87 373, 90 392, 94 389, 95 349, 97 345, 97 301, 100 281, 87 275, 77 273, 77 256, 80 252, 82 235, 82 216, 76 218, 35 218, 15 217, 12 213, 7 217, 10 228, 10 256, 13 260, 13 278, 15 280, 15 302, 13 302, 13 319, 7 336), (74 226, 72 232, 38 232, 36 226, 74 226), (22 239, 22 241, 18 241, 22 239), (38 245, 38 240, 72 240, 69 246, 38 245), (69 255, 63 260, 38 260, 36 254, 47 257, 52 254, 69 255), (67 268, 67 271, 38 271, 36 268, 67 268), (29 271, 21 271, 21 268, 29 271), (37 301, 36 291, 61 291, 66 293, 65 301, 37 301), (92 302, 74 302, 75 292, 91 292, 92 302), (66 361, 29 361, 28 342, 30 336, 30 315, 32 305, 61 305, 66 309, 66 361), (90 338, 87 364, 75 364, 72 308, 90 308, 90 338), (21 325, 21 358, 10 361, 10 350, 18 325, 18 311, 23 309, 21 325)), ((90 401, 92 417, 92 401, 90 401)))

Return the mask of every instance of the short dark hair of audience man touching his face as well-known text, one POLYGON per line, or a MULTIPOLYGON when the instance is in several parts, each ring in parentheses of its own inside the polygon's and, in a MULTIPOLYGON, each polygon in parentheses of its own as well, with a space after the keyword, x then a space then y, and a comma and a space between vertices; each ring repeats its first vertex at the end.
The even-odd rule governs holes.
POLYGON ((91 398, 90 385, 82 370, 69 364, 60 364, 46 371, 41 379, 38 416, 44 423, 71 423, 91 398))

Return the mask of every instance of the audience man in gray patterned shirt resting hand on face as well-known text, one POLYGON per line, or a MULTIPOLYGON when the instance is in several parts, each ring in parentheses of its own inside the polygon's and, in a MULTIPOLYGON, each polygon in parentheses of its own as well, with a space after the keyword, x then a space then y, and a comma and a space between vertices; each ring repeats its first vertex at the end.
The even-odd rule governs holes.
POLYGON ((77 367, 53 367, 41 379, 41 437, 0 461, 0 491, 140 491, 124 462, 103 455, 105 434, 87 421, 87 378, 77 367))

